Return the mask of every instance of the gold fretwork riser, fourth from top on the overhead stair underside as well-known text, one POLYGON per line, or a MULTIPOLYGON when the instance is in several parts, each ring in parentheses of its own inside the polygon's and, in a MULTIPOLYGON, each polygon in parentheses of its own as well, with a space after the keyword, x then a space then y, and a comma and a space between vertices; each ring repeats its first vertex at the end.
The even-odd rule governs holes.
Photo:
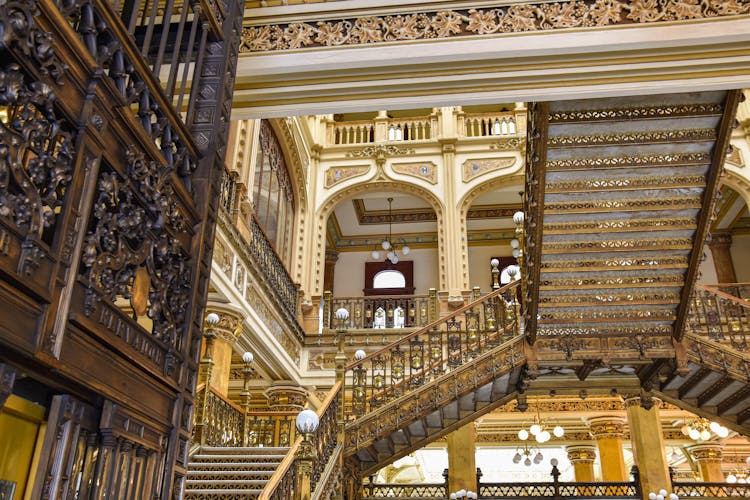
POLYGON ((659 177, 618 177, 614 179, 577 179, 550 182, 547 193, 565 191, 624 191, 629 189, 702 187, 706 183, 703 175, 668 175, 659 177))

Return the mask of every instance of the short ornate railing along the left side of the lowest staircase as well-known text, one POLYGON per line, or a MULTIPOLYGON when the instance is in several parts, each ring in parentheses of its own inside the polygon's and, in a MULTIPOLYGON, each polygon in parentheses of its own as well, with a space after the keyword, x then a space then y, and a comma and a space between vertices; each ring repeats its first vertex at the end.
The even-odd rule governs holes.
POLYGON ((242 408, 205 384, 195 395, 193 443, 200 446, 243 446, 242 408))

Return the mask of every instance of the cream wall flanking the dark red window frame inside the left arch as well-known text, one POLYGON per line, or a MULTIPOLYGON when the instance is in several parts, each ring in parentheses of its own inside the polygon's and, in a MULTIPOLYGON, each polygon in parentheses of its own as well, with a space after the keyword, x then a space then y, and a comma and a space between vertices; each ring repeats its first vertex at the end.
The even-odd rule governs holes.
MULTIPOLYGON (((333 278, 335 297, 359 297, 365 287, 365 262, 374 262, 368 252, 341 252, 336 262, 333 278)), ((414 293, 427 295, 430 288, 438 287, 437 248, 416 248, 408 259, 414 261, 414 293)))

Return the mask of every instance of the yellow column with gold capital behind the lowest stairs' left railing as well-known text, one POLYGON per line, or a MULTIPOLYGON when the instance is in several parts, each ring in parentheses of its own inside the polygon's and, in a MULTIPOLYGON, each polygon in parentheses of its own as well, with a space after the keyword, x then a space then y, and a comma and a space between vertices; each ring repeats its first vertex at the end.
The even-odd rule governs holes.
POLYGON ((242 333, 242 321, 244 318, 240 313, 226 307, 217 307, 213 304, 206 306, 206 315, 216 313, 219 315, 219 323, 213 327, 216 337, 213 341, 211 359, 211 387, 222 396, 229 392, 229 376, 232 369, 232 352, 237 336, 242 333))

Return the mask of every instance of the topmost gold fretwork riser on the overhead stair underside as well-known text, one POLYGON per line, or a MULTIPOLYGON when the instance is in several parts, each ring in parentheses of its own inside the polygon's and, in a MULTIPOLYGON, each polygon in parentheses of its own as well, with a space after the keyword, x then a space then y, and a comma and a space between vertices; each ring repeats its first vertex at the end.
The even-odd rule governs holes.
POLYGON ((550 123, 644 120, 649 118, 675 118, 683 116, 717 116, 723 111, 721 104, 671 104, 666 106, 637 106, 617 109, 582 109, 550 113, 550 123))

